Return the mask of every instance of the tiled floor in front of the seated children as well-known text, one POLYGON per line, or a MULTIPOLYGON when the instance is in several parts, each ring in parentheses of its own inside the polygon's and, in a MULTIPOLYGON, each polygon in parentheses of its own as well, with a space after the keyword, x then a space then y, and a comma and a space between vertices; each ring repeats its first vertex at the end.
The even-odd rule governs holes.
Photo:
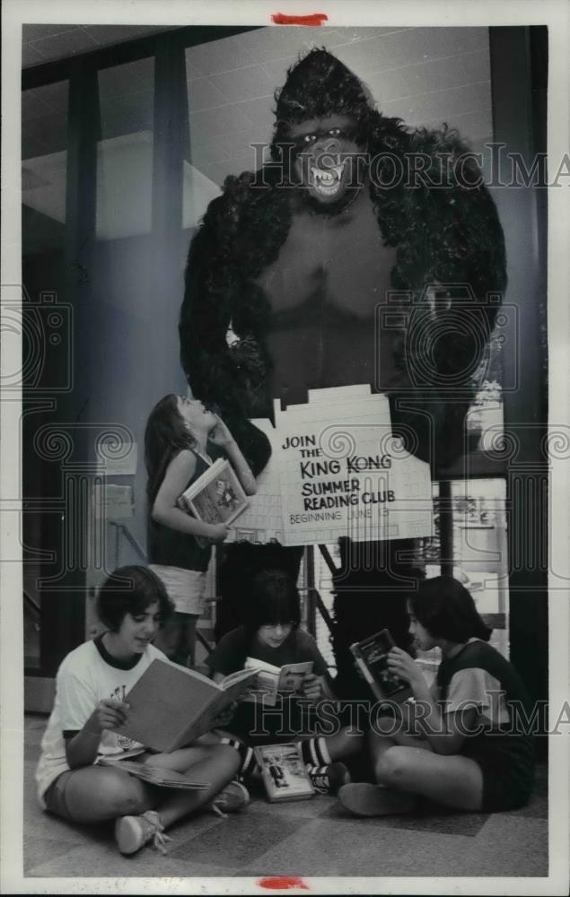
POLYGON ((33 771, 46 719, 25 721, 24 875, 548 875, 548 776, 513 813, 355 819, 333 797, 281 805, 254 797, 241 814, 203 813, 170 834, 166 857, 121 857, 110 826, 76 828, 43 813, 33 771))

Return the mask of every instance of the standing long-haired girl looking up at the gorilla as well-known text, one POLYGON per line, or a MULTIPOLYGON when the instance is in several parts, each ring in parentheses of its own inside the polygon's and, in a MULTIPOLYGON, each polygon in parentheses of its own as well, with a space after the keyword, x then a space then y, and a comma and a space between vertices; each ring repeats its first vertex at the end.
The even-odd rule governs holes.
POLYGON ((253 495, 255 477, 216 414, 197 399, 173 394, 154 406, 145 430, 149 558, 175 605, 157 645, 182 666, 194 660, 212 545, 224 542, 229 527, 191 517, 177 502, 218 457, 228 458, 244 492, 253 495))

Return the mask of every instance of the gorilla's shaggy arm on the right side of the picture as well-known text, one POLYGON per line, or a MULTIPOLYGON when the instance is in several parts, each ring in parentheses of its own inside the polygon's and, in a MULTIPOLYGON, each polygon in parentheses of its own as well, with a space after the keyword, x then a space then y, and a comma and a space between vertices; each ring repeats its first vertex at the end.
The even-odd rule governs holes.
POLYGON ((506 286, 504 235, 455 132, 419 129, 404 140, 408 184, 376 196, 381 230, 398 246, 392 286, 414 297, 397 360, 411 387, 391 404, 394 422, 417 434, 416 454, 441 467, 463 448, 474 374, 506 286), (414 179, 410 166, 419 158, 424 168, 414 179))

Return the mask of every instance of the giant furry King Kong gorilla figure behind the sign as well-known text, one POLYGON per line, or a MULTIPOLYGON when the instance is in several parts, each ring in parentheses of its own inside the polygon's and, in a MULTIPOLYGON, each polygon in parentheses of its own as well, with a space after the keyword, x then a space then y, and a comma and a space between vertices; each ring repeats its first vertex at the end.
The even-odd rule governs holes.
MULTIPOLYGON (((256 473, 269 448, 251 417, 272 418, 274 397, 301 403, 309 388, 355 383, 389 397, 393 431, 434 473, 460 455, 498 305, 487 295, 506 284, 503 231, 466 153, 446 128, 410 131, 382 116, 324 48, 289 70, 271 161, 228 177, 208 205, 180 317, 190 388, 218 405, 256 473)), ((409 647, 402 589, 419 575, 412 549, 341 540, 340 694, 363 691, 353 641, 388 627, 409 647)), ((224 553, 218 634, 239 621, 253 572, 294 574, 301 557, 272 545, 224 553)))

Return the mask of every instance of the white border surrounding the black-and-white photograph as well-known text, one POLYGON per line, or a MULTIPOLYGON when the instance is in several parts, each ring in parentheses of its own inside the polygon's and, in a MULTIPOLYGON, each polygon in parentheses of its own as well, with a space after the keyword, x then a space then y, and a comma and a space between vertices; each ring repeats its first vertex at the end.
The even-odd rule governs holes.
MULTIPOLYGON (((570 6, 566 0, 386 0, 385 3, 327 0, 4 0, 2 38, 2 292, 22 283, 21 235, 21 52, 22 22, 141 25, 270 25, 272 13, 307 15, 325 13, 323 27, 452 25, 547 25, 548 26, 548 158, 562 160, 570 150, 568 42, 570 6)), ((275 26, 283 27, 283 26, 275 26)), ((570 181, 570 178, 567 180, 570 181)), ((566 422, 570 408, 570 283, 569 184, 548 189, 548 353, 549 427, 566 422)), ((5 344, 4 344, 5 347, 5 344)), ((14 370, 17 347, 10 342, 2 353, 2 369, 14 370)), ((16 362, 17 363, 17 362, 16 362)), ((0 493, 13 494, 14 476, 20 469, 17 433, 21 404, 0 401, 0 493)), ((552 459, 553 488, 549 496, 552 557, 557 570, 570 579, 570 527, 568 521, 568 464, 552 459)), ((0 557, 17 558, 21 552, 18 515, 0 505, 0 557)), ((25 878, 22 874, 22 774, 23 774, 23 630, 22 568, 4 562, 0 569, 3 600, 1 623, 2 777, 2 891, 4 893, 263 893, 255 879, 246 878, 25 878)), ((552 589, 549 599, 550 730, 570 693, 568 635, 570 614, 564 591, 552 589)), ((310 893, 457 893, 457 894, 564 894, 568 890, 568 720, 562 734, 549 745, 549 875, 544 878, 481 876, 478 878, 307 878, 310 893)), ((135 871, 135 866, 133 867, 135 871)), ((267 892, 266 892, 267 893, 267 892)), ((293 889, 289 893, 301 893, 293 889)))

